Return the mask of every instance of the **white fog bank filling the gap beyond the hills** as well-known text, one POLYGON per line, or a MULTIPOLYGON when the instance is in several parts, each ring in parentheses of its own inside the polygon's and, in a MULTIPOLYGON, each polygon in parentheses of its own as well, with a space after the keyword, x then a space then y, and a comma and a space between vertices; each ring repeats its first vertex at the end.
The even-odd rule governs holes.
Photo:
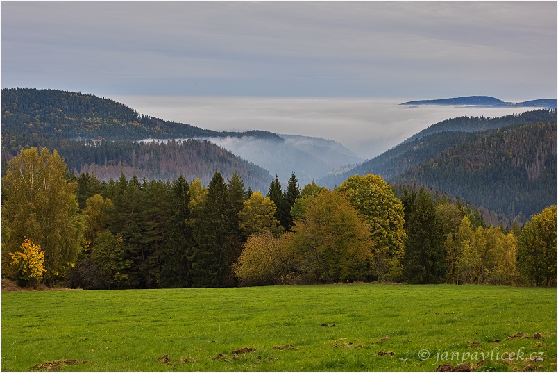
POLYGON ((204 129, 257 129, 335 140, 362 158, 373 158, 444 119, 462 115, 499 117, 530 110, 446 106, 407 108, 399 105, 410 99, 140 96, 110 98, 145 115, 192 124, 204 129))

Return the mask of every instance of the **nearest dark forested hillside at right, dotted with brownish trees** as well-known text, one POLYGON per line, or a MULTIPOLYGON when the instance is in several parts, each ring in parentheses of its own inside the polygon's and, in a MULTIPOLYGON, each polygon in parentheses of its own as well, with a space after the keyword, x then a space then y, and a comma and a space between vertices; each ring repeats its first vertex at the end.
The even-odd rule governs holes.
POLYGON ((525 222, 556 204, 556 155, 556 122, 523 124, 469 133, 391 182, 428 185, 525 222))

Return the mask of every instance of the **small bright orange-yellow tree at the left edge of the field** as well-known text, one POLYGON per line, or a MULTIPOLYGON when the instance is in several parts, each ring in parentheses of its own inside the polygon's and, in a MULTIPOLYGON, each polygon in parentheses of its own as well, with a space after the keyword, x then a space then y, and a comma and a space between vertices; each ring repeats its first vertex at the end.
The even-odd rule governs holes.
POLYGON ((34 244, 26 238, 19 248, 20 251, 10 253, 12 264, 17 267, 19 278, 29 281, 29 285, 36 285, 42 280, 42 275, 47 272, 43 267, 44 251, 40 245, 34 244))

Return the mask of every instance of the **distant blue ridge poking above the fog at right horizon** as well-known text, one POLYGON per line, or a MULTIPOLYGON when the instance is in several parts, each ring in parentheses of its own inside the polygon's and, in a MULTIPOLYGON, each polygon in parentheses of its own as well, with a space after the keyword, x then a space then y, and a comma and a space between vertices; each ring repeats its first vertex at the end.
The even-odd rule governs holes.
POLYGON ((434 100, 418 100, 400 103, 400 105, 449 105, 449 106, 517 106, 532 108, 556 108, 556 99, 536 99, 531 101, 523 101, 518 103, 505 102, 495 97, 489 96, 467 96, 453 97, 450 99, 434 99, 434 100))

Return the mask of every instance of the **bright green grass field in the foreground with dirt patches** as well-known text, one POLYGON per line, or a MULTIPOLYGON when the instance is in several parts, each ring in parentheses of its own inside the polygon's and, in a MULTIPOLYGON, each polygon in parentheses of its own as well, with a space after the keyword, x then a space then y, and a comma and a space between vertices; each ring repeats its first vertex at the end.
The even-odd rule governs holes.
POLYGON ((556 309, 480 285, 3 292, 2 370, 555 371, 556 309))

